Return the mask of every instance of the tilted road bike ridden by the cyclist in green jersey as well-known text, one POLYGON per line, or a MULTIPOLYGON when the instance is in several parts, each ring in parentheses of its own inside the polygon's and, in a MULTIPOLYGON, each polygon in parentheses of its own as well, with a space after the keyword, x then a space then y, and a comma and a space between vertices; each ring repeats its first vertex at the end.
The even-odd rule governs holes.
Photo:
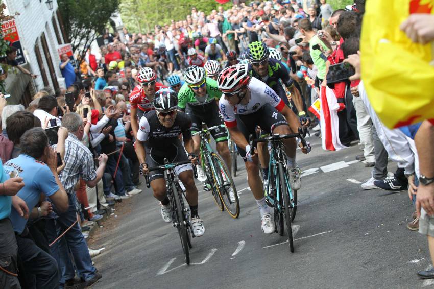
POLYGON ((213 151, 209 141, 211 131, 218 129, 226 129, 226 127, 224 125, 213 126, 195 132, 193 135, 199 135, 201 138, 199 157, 202 168, 208 179, 205 186, 210 186, 211 195, 219 209, 221 211, 226 209, 229 215, 236 219, 239 216, 239 200, 235 184, 225 162, 213 151), (231 200, 229 196, 229 188, 233 190, 234 201, 231 200))

